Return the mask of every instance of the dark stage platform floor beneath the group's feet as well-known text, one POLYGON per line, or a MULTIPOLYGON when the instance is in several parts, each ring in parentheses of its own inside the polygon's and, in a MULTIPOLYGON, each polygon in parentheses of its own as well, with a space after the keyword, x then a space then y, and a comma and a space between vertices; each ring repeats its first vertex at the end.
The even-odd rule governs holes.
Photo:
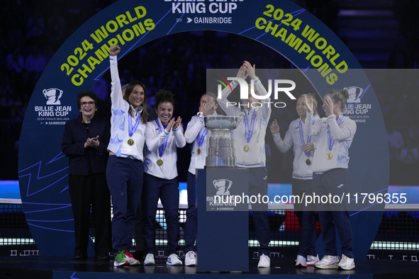
MULTIPOLYGON (((234 256, 234 255, 232 255, 234 256)), ((352 271, 321 270, 313 267, 294 268, 294 258, 272 258, 271 268, 257 268, 257 258, 250 259, 250 271, 199 273, 196 267, 166 266, 164 258, 157 258, 155 266, 113 267, 113 261, 73 261, 71 256, 32 256, 1 258, 0 278, 22 279, 106 279, 106 278, 255 278, 259 275, 286 275, 286 278, 419 278, 419 262, 355 259, 352 271)))

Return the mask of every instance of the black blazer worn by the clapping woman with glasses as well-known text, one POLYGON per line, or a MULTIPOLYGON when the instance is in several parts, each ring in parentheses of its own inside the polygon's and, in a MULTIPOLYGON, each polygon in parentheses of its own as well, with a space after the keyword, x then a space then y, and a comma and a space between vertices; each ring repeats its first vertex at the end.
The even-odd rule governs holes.
POLYGON ((89 175, 89 154, 92 173, 104 173, 108 163, 108 144, 111 137, 111 124, 101 118, 91 118, 89 123, 89 135, 82 123, 82 114, 79 117, 65 123, 62 137, 62 153, 69 157, 68 174, 70 176, 89 175), (94 147, 84 148, 84 142, 88 137, 99 135, 99 149, 94 147), (91 150, 91 152, 89 152, 91 150))

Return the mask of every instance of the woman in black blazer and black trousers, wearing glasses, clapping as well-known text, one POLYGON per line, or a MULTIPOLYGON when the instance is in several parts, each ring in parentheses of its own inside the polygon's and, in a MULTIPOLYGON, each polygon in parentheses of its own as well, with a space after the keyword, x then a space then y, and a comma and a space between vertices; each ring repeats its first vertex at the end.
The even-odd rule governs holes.
POLYGON ((77 96, 79 117, 65 123, 62 152, 69 157, 69 193, 74 215, 76 246, 73 258, 87 258, 90 206, 93 213, 96 260, 108 260, 111 251, 111 195, 106 183, 106 164, 111 127, 94 118, 98 97, 90 91, 77 96))

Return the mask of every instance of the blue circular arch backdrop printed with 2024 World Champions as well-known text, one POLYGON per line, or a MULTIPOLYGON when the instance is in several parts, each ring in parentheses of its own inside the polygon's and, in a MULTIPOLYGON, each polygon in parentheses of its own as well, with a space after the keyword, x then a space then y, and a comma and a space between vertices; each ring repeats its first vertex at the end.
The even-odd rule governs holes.
MULTIPOLYGON (((351 147, 352 190, 385 193, 389 152, 376 95, 350 50, 311 13, 288 0, 120 0, 86 21, 60 47, 26 110, 19 185, 41 255, 72 255, 74 251, 68 159, 61 152, 61 142, 65 122, 79 113, 74 105, 77 93, 90 91, 108 70, 110 45, 121 45, 118 58, 123 59, 151 40, 191 30, 220 30, 271 47, 298 69, 309 69, 306 76, 321 96, 330 89, 351 89, 354 103, 348 113, 357 120, 351 147)), ((384 205, 368 206, 359 205, 352 212, 356 258, 366 257, 384 210, 384 205)))

